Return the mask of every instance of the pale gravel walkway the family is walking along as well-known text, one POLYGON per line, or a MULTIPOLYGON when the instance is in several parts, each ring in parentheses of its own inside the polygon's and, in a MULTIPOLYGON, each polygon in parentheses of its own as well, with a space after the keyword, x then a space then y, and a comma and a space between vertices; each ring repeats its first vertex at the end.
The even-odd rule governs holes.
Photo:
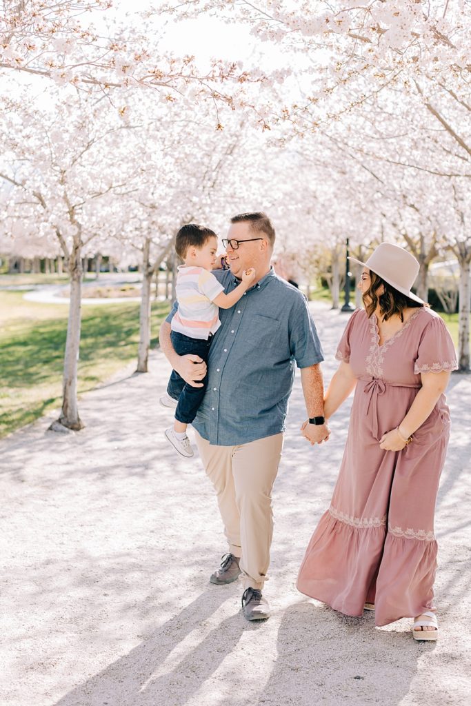
MULTIPOLYGON (((348 315, 320 309, 328 363, 348 315)), ((453 433, 436 530, 439 642, 410 621, 374 628, 297 593, 347 429, 311 448, 299 376, 275 484, 267 623, 246 623, 239 585, 208 576, 225 551, 201 462, 180 460, 157 405, 169 366, 154 352, 81 401, 80 433, 43 419, 0 443, 2 706, 447 706, 469 703, 470 376, 454 375, 453 433)), ((419 500, 417 501, 419 502, 419 500)))

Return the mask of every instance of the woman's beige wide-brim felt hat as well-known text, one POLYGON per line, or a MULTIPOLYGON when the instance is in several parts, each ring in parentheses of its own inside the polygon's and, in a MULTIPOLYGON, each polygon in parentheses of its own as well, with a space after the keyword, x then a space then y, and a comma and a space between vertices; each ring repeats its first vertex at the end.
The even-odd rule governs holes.
POLYGON ((425 304, 423 299, 417 297, 410 288, 419 274, 419 263, 413 255, 399 245, 381 243, 369 256, 366 263, 356 258, 348 258, 354 263, 367 267, 375 275, 379 275, 388 285, 405 294, 409 299, 425 304))

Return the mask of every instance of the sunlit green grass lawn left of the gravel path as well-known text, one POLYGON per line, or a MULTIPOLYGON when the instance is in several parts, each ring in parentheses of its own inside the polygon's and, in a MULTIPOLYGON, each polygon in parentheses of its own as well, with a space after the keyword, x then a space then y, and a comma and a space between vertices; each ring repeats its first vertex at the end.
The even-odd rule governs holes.
MULTIPOLYGON (((152 306, 152 342, 169 304, 152 306)), ((0 291, 0 437, 61 405, 68 306, 0 291)), ((78 392, 137 360, 139 304, 83 306, 78 392)))

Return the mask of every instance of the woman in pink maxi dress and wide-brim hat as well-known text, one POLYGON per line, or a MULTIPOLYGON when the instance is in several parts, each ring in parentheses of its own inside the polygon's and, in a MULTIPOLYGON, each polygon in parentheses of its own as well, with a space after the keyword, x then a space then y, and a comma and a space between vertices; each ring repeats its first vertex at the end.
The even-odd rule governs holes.
MULTIPOLYGON (((354 258, 350 258, 354 260, 354 258)), ((456 363, 443 320, 412 287, 419 263, 382 243, 364 265, 355 311, 326 393, 331 417, 355 388, 332 502, 299 570, 298 589, 376 625, 414 617, 436 640, 434 510, 450 417, 443 395, 456 363)))

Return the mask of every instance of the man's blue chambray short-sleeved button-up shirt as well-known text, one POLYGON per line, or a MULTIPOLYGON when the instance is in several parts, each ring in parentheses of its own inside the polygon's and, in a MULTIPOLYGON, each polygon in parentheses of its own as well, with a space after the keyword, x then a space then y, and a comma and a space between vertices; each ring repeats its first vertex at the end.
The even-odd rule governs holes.
MULTIPOLYGON (((230 270, 213 274, 225 292, 239 284, 230 270)), ((177 308, 175 302, 166 321, 172 321, 177 308)), ((323 361, 304 294, 271 268, 231 309, 220 309, 219 316, 208 359, 208 388, 193 426, 219 446, 284 431, 295 366, 323 361)))

